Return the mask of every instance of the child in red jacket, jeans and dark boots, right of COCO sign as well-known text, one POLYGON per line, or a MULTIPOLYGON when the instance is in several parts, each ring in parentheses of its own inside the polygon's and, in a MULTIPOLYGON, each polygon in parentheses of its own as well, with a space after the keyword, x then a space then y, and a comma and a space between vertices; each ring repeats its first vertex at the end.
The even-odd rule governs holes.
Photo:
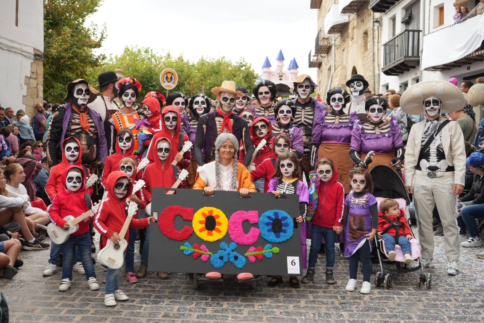
POLYGON ((308 214, 311 219, 311 249, 306 275, 302 278, 303 283, 308 283, 314 278, 314 269, 318 260, 318 252, 321 249, 321 238, 326 242, 326 283, 334 284, 334 241, 336 234, 343 231, 343 200, 345 190, 338 182, 338 172, 334 168, 331 158, 323 157, 316 164, 319 182, 315 188, 318 191, 318 205, 316 209, 308 206, 308 214), (319 184, 319 185, 318 185, 319 184))

